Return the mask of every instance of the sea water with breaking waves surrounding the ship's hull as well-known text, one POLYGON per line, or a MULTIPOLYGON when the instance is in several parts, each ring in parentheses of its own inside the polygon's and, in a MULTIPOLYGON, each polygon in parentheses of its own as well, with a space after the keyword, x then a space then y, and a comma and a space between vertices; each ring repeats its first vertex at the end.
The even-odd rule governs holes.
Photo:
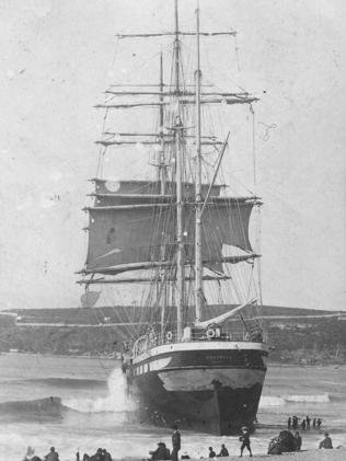
MULTIPOLYGON (((112 359, 26 354, 0 355, 0 461, 22 460, 28 446, 39 457, 56 447, 60 461, 77 450, 92 454, 107 448, 114 458, 143 459, 171 429, 150 422, 129 423, 136 404, 126 394, 119 362, 112 359)), ((316 448, 327 430, 334 446, 346 446, 346 367, 269 366, 252 436, 254 453, 265 453, 270 438, 291 415, 321 417, 321 430, 301 430, 303 447, 316 448)), ((224 443, 239 453, 235 436, 182 431, 182 452, 207 457, 224 443)))

